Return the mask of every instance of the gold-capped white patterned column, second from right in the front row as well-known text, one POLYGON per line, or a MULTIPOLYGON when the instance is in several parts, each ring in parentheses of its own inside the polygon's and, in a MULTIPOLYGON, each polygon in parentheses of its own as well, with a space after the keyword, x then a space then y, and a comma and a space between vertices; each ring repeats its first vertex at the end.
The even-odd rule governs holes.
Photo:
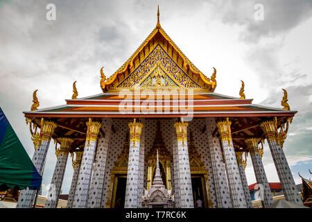
POLYGON ((232 142, 230 128, 231 121, 229 121, 229 119, 227 118, 226 121, 218 121, 218 123, 216 123, 216 126, 218 127, 220 133, 223 152, 225 155, 227 181, 229 183, 229 194, 231 194, 232 206, 234 208, 247 208, 241 174, 239 173, 239 165, 236 162, 236 156, 232 142))

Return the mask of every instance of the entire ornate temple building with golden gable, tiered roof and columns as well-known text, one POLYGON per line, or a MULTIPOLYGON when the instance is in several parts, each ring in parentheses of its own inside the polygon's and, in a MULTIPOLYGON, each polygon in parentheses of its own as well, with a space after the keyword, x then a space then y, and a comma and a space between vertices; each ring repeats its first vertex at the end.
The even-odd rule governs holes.
MULTIPOLYGON (((263 205, 272 194, 263 168, 263 143, 277 169, 286 200, 302 204, 283 144, 295 111, 252 104, 215 92, 216 69, 208 78, 182 53, 159 22, 132 56, 109 78, 100 71, 103 91, 66 105, 24 112, 44 173, 55 142, 57 162, 45 207, 56 207, 66 165, 73 164, 67 207, 252 207, 245 176, 250 155, 263 205), (158 154, 157 154, 158 153, 158 154), (157 190, 159 195, 152 198, 157 190)), ((236 93, 235 93, 236 94, 236 93)), ((31 207, 35 191, 21 191, 17 207, 31 207)))

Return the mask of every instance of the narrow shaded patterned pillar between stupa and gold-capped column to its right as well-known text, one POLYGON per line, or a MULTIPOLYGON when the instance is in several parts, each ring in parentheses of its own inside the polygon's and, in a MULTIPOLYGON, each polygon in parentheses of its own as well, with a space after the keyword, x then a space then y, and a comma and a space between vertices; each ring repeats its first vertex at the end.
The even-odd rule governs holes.
POLYGON ((180 187, 180 173, 179 173, 179 159, 177 155, 177 137, 175 129, 172 129, 172 150, 173 150, 173 177, 175 183, 175 207, 180 208, 181 206, 181 187, 180 187))

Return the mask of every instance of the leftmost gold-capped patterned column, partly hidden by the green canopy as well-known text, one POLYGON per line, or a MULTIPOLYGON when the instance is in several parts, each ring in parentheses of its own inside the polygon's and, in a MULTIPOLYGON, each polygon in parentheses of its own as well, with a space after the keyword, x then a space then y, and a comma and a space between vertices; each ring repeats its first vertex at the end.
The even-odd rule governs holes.
MULTIPOLYGON (((42 127, 40 130, 40 142, 38 148, 35 148, 33 155, 33 164, 37 171, 42 175, 44 169, 44 162, 46 160, 46 153, 50 145, 51 137, 54 133, 57 125, 53 121, 42 121, 42 127)), ((30 190, 28 188, 21 191, 19 200, 17 202, 17 208, 31 208, 33 200, 35 198, 36 190, 30 190)))

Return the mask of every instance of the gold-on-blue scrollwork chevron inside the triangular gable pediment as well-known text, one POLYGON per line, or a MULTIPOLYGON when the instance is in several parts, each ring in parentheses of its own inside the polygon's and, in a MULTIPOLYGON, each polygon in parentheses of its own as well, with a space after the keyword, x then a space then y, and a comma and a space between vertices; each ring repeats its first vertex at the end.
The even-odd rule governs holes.
MULTIPOLYGON (((138 87, 141 80, 157 65, 162 66, 167 74, 170 75, 169 77, 175 79, 177 83, 180 84, 180 87, 200 88, 200 85, 185 74, 170 56, 168 56, 166 51, 164 51, 161 46, 157 45, 150 55, 141 62, 141 65, 125 78, 116 89, 138 87)), ((170 87, 168 86, 168 88, 170 87)))

